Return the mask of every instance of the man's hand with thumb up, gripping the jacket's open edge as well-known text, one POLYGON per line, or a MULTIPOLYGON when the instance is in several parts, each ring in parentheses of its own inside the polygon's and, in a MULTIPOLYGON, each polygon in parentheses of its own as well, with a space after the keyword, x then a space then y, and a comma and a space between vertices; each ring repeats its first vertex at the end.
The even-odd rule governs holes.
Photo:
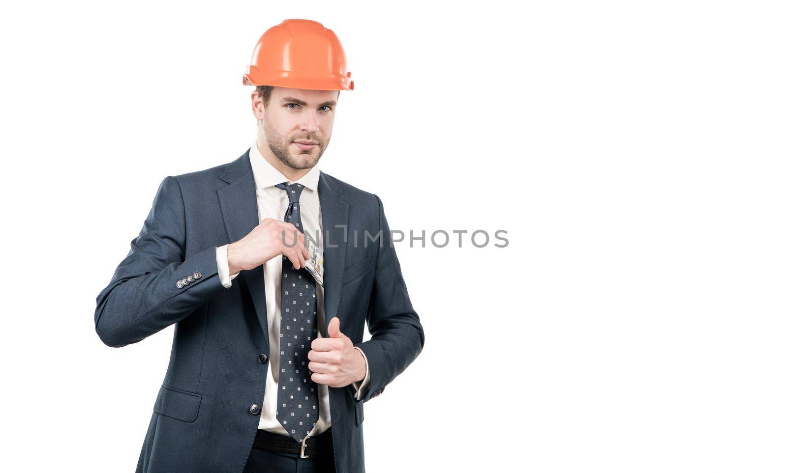
POLYGON ((364 355, 353 347, 353 341, 339 331, 339 317, 328 324, 328 336, 312 340, 309 369, 312 381, 330 387, 345 387, 366 377, 364 355))

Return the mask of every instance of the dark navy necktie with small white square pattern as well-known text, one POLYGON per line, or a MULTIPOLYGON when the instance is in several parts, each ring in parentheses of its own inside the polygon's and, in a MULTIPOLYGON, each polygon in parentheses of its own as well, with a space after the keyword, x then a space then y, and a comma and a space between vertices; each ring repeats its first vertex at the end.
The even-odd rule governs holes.
MULTIPOLYGON (((277 184, 290 197, 284 222, 292 223, 301 233, 301 198, 303 185, 277 184)), ((286 232, 285 243, 293 243, 293 233, 286 232)), ((317 383, 312 381, 309 357, 312 339, 317 338, 317 299, 314 278, 305 268, 296 270, 286 256, 282 260, 282 304, 279 317, 279 395, 276 419, 300 443, 320 418, 317 383)))

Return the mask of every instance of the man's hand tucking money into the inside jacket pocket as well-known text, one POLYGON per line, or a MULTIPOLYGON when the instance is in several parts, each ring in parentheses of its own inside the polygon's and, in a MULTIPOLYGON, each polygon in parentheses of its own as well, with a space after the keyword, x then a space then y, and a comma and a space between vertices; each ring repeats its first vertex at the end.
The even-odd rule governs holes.
POLYGON ((305 237, 291 223, 265 218, 246 237, 227 246, 230 274, 253 270, 282 254, 290 259, 296 270, 300 270, 309 259, 305 237), (297 235, 297 242, 293 246, 294 235, 297 235))

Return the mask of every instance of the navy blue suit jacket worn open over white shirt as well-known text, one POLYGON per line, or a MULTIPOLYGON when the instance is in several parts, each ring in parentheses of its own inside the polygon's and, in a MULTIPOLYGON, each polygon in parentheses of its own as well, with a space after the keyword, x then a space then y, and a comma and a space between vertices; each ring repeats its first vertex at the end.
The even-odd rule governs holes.
MULTIPOLYGON (((366 354, 371 381, 361 400, 349 386, 328 387, 334 457, 337 471, 364 471, 364 402, 416 359, 423 327, 379 197, 323 172, 318 193, 323 230, 330 231, 330 241, 321 236, 326 326, 331 317, 341 319, 342 333, 366 354), (364 248, 364 230, 382 233, 364 248)), ((262 405, 270 365, 259 361, 271 350, 263 266, 242 271, 224 288, 216 247, 240 240, 258 222, 248 150, 222 166, 168 176, 131 251, 96 298, 96 332, 109 347, 175 324, 137 471, 241 473, 246 464, 260 420, 249 406, 262 405), (201 277, 179 287, 194 273, 201 277)))

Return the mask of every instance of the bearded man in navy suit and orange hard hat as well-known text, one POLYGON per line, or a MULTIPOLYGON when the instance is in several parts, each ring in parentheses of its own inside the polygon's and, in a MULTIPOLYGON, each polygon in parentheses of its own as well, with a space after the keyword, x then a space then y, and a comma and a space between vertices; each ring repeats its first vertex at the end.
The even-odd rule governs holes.
POLYGON ((243 78, 257 86, 256 141, 164 178, 98 295, 110 347, 176 325, 137 471, 364 471, 364 402, 424 336, 379 197, 317 167, 349 76, 322 24, 266 31, 243 78), (306 235, 324 251, 324 288, 305 269, 306 235))

